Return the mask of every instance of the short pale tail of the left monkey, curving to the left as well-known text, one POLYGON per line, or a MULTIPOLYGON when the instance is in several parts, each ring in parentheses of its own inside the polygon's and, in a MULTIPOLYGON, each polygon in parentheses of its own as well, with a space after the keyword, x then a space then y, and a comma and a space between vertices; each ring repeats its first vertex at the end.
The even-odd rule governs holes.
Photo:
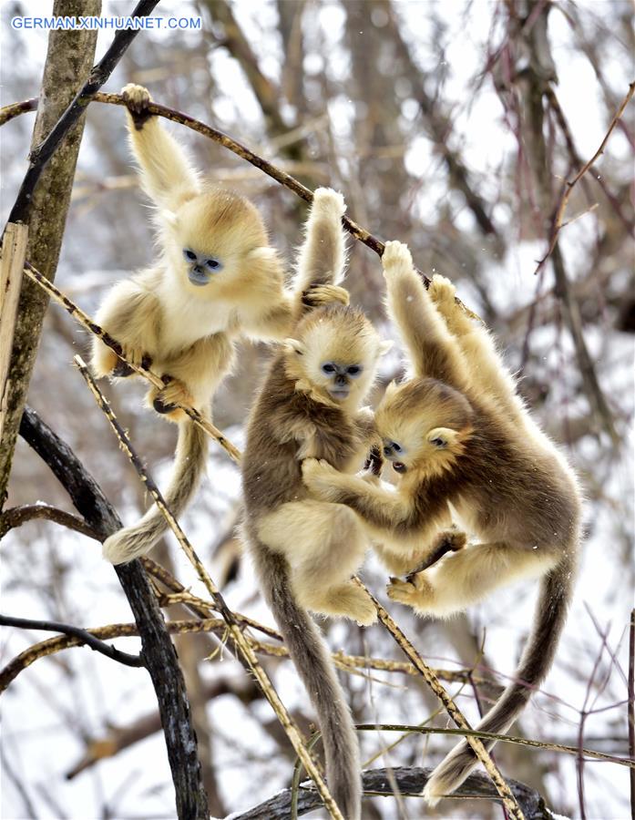
MULTIPOLYGON (((189 504, 205 469, 207 434, 193 422, 179 424, 179 440, 169 487, 163 494, 170 512, 178 518, 189 504)), ((119 529, 104 541, 104 558, 112 564, 125 564, 145 555, 168 529, 159 507, 153 505, 132 527, 119 529)))

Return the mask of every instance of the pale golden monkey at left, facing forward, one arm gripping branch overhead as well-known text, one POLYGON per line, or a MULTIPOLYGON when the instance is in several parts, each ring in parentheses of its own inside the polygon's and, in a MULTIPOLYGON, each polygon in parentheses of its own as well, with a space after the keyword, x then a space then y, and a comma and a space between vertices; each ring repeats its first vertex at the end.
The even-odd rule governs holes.
MULTIPOLYGON (((179 516, 204 470, 207 436, 174 405, 191 405, 210 417, 212 395, 231 369, 233 340, 244 334, 282 341, 296 308, 258 210, 230 190, 200 181, 177 140, 149 114, 146 88, 128 85, 122 94, 141 185, 156 206, 160 251, 152 268, 108 292, 97 323, 122 344, 126 358, 151 364, 163 377, 165 386, 150 388, 148 404, 179 425, 165 493, 179 516)), ((318 288, 306 298, 322 304, 348 296, 340 288, 318 288)), ((132 373, 97 338, 92 366, 97 376, 132 373)), ((150 507, 137 524, 105 541, 104 557, 113 564, 137 558, 166 528, 159 509, 150 507)))

